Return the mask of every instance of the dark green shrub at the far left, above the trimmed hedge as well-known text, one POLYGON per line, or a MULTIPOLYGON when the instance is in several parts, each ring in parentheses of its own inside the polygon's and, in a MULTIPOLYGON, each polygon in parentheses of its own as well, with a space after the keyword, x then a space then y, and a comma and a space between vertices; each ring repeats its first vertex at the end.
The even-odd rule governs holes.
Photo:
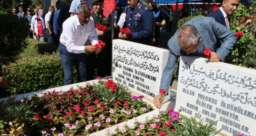
POLYGON ((6 12, 0 12, 0 62, 17 57, 25 49, 29 23, 26 18, 18 18, 6 12))

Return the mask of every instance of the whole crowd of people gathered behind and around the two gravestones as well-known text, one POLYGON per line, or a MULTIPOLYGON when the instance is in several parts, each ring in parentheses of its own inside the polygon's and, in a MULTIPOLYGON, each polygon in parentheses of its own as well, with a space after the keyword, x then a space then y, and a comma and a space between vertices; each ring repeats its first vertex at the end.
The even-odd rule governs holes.
MULTIPOLYGON (((119 32, 118 37, 137 43, 157 46, 159 29, 165 26, 164 15, 157 9, 156 0, 148 2, 127 0, 127 6, 120 17, 114 13, 114 29, 128 28, 129 35, 119 32), (119 18, 119 19, 118 19, 119 18)), ((223 0, 222 6, 209 17, 196 17, 182 27, 169 40, 169 57, 161 78, 160 89, 169 89, 172 75, 180 55, 195 55, 205 57, 203 51, 212 51, 209 62, 224 61, 236 43, 237 36, 230 30, 229 15, 238 5, 238 0, 223 0)), ((19 13, 13 9, 13 14, 29 19, 30 37, 58 44, 58 51, 64 69, 64 85, 72 84, 73 66, 75 64, 78 81, 93 79, 95 69, 97 76, 111 75, 111 32, 112 15, 103 15, 104 0, 67 0, 57 1, 57 11, 49 6, 44 16, 43 9, 27 8, 27 14, 22 6, 19 13), (106 29, 99 29, 104 26, 106 29), (32 35, 31 35, 32 33, 32 35), (47 40, 46 40, 47 39, 47 40), (99 40, 106 44, 105 48, 94 45, 99 40), (96 53, 95 53, 96 52, 96 53), (97 54, 97 55, 96 55, 97 54)), ((160 95, 154 97, 155 106, 160 107, 160 95)))

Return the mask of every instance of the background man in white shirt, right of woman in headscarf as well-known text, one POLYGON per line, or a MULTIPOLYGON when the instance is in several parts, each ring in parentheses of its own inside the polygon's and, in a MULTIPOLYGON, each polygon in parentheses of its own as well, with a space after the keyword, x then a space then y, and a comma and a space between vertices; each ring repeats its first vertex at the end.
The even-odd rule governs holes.
MULTIPOLYGON (((49 6, 48 8, 48 13, 45 15, 44 20, 45 20, 45 25, 46 25, 46 35, 47 35, 47 41, 48 43, 53 43, 53 34, 50 26, 50 20, 51 20, 51 15, 52 13, 55 12, 54 6, 49 6)), ((53 28, 52 28, 53 29, 53 28)))

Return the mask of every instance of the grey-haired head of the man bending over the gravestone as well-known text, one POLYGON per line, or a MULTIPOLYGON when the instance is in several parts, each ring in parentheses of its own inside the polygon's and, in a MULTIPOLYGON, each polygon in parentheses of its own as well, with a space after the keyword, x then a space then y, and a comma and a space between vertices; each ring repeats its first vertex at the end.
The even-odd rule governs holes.
POLYGON ((180 48, 186 50, 189 44, 196 45, 198 44, 199 33, 198 30, 191 26, 185 25, 178 29, 176 34, 176 40, 180 45, 180 48))

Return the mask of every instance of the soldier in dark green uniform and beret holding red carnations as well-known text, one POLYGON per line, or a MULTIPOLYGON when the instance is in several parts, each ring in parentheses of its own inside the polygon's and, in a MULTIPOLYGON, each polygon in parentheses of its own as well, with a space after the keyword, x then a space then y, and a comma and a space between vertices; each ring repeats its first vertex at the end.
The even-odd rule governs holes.
MULTIPOLYGON (((94 76, 95 68, 97 69, 97 76, 105 77, 106 75, 111 75, 111 26, 112 26, 112 16, 104 17, 103 15, 103 5, 104 0, 92 0, 91 1, 93 9, 91 10, 91 17, 94 20, 95 26, 97 24, 107 26, 108 29, 103 31, 95 28, 98 34, 98 39, 102 40, 106 46, 97 54, 87 51, 87 80, 92 80, 94 76)), ((88 43, 88 41, 87 41, 88 43)), ((87 44, 86 44, 87 45, 87 44)), ((89 44, 91 45, 91 44, 89 44)))

